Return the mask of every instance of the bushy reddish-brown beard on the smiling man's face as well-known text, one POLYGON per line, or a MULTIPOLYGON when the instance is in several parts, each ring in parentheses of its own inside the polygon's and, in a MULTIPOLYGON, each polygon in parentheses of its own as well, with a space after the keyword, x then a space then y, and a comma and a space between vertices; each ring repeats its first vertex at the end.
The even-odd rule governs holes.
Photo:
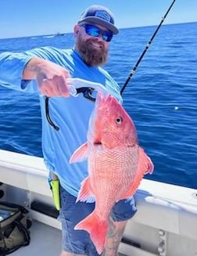
POLYGON ((106 49, 102 41, 98 41, 97 38, 84 40, 81 35, 79 35, 76 46, 82 59, 84 59, 84 63, 88 66, 102 66, 106 63, 108 49, 106 49))

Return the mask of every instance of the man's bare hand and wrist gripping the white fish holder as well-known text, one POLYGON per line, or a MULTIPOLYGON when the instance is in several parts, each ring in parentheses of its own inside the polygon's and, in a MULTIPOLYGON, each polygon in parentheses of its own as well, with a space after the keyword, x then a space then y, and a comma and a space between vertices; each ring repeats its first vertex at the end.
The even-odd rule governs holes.
POLYGON ((38 57, 30 59, 23 70, 23 79, 36 79, 39 91, 48 97, 70 96, 66 78, 70 78, 68 70, 56 63, 38 57))

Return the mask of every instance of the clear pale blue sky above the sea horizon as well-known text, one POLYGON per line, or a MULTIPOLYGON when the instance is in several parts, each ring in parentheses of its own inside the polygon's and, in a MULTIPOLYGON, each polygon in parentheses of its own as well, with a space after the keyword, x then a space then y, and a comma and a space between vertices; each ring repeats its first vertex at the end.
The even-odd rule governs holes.
MULTIPOLYGON (((89 5, 106 5, 116 26, 159 24, 172 0, 0 0, 0 38, 69 33, 89 5)), ((197 0, 176 0, 164 23, 197 21, 197 0)), ((163 24, 164 24, 163 23, 163 24)))

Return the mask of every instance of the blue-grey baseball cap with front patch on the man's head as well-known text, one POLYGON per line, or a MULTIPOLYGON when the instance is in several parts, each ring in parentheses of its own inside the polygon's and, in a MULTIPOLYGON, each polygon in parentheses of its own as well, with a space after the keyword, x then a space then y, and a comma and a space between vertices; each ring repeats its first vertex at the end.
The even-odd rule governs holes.
POLYGON ((81 14, 78 24, 95 23, 106 27, 113 34, 118 34, 119 30, 114 26, 113 13, 102 5, 91 5, 81 14))

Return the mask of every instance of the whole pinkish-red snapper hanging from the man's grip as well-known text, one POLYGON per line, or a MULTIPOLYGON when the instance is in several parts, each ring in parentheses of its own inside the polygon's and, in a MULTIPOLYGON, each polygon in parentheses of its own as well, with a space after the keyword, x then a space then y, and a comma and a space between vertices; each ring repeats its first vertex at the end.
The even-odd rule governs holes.
POLYGON ((101 254, 113 205, 134 195, 143 176, 152 173, 153 164, 138 146, 131 117, 111 95, 98 92, 87 138, 70 163, 88 159, 88 177, 81 183, 77 201, 95 198, 95 210, 74 229, 88 231, 101 254))

